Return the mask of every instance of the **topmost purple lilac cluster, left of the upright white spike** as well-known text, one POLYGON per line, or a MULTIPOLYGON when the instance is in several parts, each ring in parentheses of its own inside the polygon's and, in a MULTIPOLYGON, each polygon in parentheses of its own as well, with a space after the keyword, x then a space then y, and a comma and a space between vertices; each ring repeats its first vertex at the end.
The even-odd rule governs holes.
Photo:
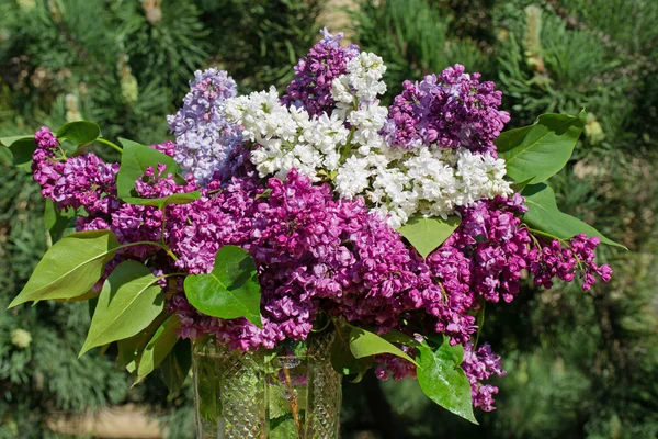
POLYGON ((284 105, 303 106, 310 115, 331 114, 336 102, 331 98, 331 82, 347 72, 350 59, 359 55, 355 44, 342 47, 342 33, 331 35, 322 30, 324 38, 299 59, 295 66, 294 79, 286 88, 287 93, 281 98, 284 105))

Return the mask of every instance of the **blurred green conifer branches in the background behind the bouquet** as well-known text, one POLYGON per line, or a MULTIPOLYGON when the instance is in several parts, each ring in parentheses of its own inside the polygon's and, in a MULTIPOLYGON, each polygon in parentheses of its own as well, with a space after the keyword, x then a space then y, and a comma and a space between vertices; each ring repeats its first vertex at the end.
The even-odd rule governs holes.
MULTIPOLYGON (((345 383, 342 437, 657 438, 655 23, 656 0, 0 0, 0 136, 87 119, 106 137, 163 140, 194 69, 224 68, 242 93, 283 89, 324 25, 384 58, 387 100, 460 63, 498 83, 510 127, 587 108, 551 183, 564 211, 632 250, 602 249, 613 281, 529 285, 487 309, 483 337, 509 373, 480 426, 412 381, 367 376, 345 383)), ((31 176, 0 165, 0 309, 46 248, 43 210, 31 176)), ((128 403, 193 437, 190 389, 168 401, 157 376, 129 389, 110 358, 77 360, 88 319, 81 304, 0 312, 0 438, 65 437, 52 419, 128 403)))

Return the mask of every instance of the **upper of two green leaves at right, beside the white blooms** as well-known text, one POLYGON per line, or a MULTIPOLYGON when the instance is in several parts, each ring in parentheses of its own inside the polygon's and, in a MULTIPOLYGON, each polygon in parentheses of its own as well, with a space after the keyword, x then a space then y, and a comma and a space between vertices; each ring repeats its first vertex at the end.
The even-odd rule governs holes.
POLYGON ((501 133, 495 143, 508 176, 535 184, 565 167, 583 127, 585 110, 576 116, 542 114, 533 125, 501 133))

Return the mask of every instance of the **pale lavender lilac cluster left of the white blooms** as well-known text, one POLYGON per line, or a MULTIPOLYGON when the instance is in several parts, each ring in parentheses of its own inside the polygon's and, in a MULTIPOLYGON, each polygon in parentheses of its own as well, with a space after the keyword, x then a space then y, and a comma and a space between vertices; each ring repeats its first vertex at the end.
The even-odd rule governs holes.
POLYGON ((227 179, 245 162, 241 134, 226 122, 219 108, 238 93, 236 81, 215 68, 197 70, 183 106, 167 117, 178 144, 173 158, 192 172, 201 185, 213 178, 227 179))

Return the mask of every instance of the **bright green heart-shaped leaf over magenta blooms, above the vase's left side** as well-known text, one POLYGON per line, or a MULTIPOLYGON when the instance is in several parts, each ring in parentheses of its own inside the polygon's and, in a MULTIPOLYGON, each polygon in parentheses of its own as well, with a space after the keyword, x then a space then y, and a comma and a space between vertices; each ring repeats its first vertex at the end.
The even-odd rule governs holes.
POLYGON ((246 317, 262 328, 256 262, 243 248, 222 247, 211 273, 185 278, 185 295, 203 314, 226 319, 246 317))

